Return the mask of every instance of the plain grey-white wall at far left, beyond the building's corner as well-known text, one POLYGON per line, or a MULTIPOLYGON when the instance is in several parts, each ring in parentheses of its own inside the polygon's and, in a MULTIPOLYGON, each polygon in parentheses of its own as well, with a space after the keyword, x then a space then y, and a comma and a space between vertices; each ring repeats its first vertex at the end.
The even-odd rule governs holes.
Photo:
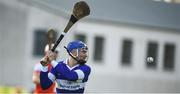
POLYGON ((0 85, 24 83, 27 8, 16 1, 0 1, 0 85))

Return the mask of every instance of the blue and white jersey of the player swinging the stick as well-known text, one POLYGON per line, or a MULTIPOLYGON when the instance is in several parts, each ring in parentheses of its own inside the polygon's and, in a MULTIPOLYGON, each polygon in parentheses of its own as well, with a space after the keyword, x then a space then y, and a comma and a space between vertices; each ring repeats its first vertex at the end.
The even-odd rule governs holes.
POLYGON ((76 65, 69 67, 67 60, 65 61, 52 61, 53 68, 48 73, 44 67, 40 73, 40 83, 43 89, 51 86, 53 81, 57 82, 57 93, 83 93, 85 84, 88 81, 91 68, 84 65, 76 65))

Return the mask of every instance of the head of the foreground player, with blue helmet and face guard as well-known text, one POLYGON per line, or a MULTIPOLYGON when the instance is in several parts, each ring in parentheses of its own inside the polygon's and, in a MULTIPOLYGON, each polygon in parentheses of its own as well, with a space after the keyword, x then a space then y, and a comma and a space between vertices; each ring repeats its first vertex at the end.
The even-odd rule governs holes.
POLYGON ((70 42, 67 47, 64 46, 68 54, 75 59, 79 64, 85 64, 88 60, 88 48, 86 44, 84 44, 82 41, 76 40, 73 42, 70 42), (74 56, 71 51, 73 49, 77 50, 77 55, 74 56), (80 54, 86 55, 81 57, 80 54))

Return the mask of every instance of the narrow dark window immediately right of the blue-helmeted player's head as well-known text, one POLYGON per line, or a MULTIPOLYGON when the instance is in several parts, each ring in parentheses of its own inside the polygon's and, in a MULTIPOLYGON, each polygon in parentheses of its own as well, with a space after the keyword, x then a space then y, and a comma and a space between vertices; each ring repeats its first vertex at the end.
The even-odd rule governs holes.
POLYGON ((103 50, 104 50, 104 38, 97 36, 94 40, 94 60, 102 61, 103 59, 103 50))

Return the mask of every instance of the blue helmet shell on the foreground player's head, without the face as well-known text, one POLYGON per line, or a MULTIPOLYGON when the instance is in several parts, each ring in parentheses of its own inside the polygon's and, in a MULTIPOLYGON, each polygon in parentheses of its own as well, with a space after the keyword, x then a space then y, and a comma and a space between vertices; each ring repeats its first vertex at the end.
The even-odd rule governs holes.
POLYGON ((80 40, 72 41, 67 45, 68 52, 71 52, 73 49, 80 49, 80 48, 87 48, 86 44, 80 40))

